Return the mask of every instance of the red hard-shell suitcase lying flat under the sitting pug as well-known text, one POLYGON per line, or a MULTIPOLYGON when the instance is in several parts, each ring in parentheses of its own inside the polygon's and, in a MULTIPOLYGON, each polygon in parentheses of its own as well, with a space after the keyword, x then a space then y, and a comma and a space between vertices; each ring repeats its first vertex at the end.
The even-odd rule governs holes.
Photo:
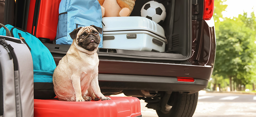
POLYGON ((111 97, 105 101, 34 99, 34 117, 141 117, 136 97, 111 97))

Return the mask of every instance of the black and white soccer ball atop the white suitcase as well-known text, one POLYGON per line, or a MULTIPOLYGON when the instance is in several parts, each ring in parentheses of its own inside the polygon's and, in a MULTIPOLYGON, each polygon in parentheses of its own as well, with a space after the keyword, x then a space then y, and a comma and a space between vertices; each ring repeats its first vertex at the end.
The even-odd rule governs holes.
POLYGON ((164 5, 157 1, 149 1, 141 8, 141 16, 149 18, 156 23, 162 23, 166 17, 164 5))

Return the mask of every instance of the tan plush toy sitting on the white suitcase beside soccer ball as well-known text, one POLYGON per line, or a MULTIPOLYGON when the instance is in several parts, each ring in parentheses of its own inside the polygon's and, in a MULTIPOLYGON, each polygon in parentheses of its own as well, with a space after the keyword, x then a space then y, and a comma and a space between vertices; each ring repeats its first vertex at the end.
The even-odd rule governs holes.
POLYGON ((102 17, 129 16, 130 6, 121 0, 98 0, 101 5, 102 17))

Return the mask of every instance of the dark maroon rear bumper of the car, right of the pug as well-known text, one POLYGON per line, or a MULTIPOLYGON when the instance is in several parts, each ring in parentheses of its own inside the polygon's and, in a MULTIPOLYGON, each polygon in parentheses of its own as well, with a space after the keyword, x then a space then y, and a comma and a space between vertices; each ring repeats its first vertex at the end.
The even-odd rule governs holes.
POLYGON ((198 92, 207 87, 212 66, 139 61, 99 61, 99 86, 102 89, 198 92), (178 82, 177 77, 195 82, 178 82))

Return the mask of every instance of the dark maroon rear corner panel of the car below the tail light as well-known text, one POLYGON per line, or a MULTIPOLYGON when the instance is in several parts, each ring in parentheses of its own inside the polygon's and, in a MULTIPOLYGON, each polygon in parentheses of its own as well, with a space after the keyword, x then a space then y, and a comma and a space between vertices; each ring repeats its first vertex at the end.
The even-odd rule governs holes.
POLYGON ((187 61, 192 65, 213 67, 216 51, 214 27, 209 27, 205 20, 193 20, 192 41, 192 56, 187 61))

